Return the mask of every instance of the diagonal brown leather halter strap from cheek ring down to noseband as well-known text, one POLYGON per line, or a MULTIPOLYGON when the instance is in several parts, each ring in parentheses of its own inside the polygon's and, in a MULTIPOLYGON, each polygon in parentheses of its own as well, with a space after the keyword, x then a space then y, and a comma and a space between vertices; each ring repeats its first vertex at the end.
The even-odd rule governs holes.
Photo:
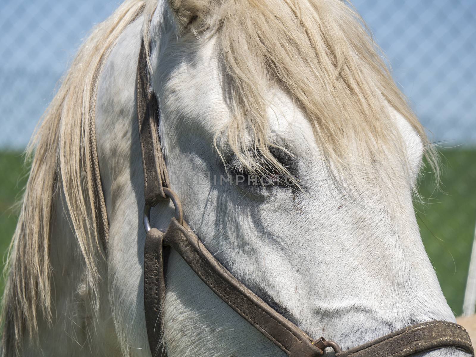
POLYGON ((296 325, 269 307, 260 297, 244 286, 205 248, 191 230, 175 218, 164 234, 165 245, 171 246, 187 262, 215 294, 241 317, 292 357, 317 357, 323 351, 313 345, 296 325))

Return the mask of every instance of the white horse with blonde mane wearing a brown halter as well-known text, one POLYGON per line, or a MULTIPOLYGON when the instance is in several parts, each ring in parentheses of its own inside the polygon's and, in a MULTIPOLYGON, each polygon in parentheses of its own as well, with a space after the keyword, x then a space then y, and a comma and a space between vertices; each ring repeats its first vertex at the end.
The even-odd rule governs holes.
MULTIPOLYGON (((172 188, 234 276, 343 349, 454 321, 412 206, 431 148, 348 4, 127 0, 83 45, 33 140, 4 356, 150 356, 134 95, 142 35, 172 188), (263 173, 273 185, 253 184, 263 173)), ((152 222, 164 229, 172 216, 158 206, 152 222)), ((169 357, 284 356, 173 251, 167 271, 169 357)))

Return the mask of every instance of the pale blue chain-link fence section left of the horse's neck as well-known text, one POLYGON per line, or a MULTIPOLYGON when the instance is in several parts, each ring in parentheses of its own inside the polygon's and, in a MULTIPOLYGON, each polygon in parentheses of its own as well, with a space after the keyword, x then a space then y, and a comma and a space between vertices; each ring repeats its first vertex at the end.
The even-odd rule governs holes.
POLYGON ((2 0, 0 148, 23 149, 82 39, 120 0, 2 0))

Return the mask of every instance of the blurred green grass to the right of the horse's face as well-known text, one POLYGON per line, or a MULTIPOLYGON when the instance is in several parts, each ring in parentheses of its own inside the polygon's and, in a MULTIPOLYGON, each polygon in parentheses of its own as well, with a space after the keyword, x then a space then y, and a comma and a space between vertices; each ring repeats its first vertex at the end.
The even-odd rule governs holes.
POLYGON ((476 225, 476 150, 441 151, 441 190, 425 173, 415 204, 423 244, 443 293, 456 315, 462 313, 466 277, 476 225), (429 198, 429 199, 428 199, 429 198))

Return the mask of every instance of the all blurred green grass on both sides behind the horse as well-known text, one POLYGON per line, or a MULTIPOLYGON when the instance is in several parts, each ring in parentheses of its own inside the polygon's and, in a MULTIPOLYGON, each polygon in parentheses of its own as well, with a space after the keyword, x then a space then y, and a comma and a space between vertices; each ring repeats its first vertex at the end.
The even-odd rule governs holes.
MULTIPOLYGON (((426 205, 415 203, 415 208, 428 256, 450 307, 459 315, 476 224, 476 150, 446 149, 442 154, 442 191, 434 191, 431 175, 425 173, 420 193, 431 199, 426 199, 426 205)), ((0 172, 0 254, 4 256, 17 219, 17 211, 10 208, 26 182, 20 153, 0 152, 0 172)))

